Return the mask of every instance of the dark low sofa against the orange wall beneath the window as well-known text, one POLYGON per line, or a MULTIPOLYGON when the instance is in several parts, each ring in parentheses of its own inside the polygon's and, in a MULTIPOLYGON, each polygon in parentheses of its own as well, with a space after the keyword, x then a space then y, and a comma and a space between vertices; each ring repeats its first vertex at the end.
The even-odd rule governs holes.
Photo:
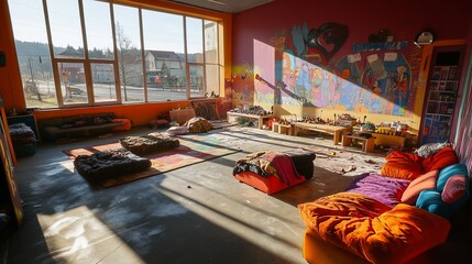
POLYGON ((117 118, 112 112, 62 117, 39 121, 41 138, 45 141, 125 131, 130 130, 131 127, 131 120, 117 118))

